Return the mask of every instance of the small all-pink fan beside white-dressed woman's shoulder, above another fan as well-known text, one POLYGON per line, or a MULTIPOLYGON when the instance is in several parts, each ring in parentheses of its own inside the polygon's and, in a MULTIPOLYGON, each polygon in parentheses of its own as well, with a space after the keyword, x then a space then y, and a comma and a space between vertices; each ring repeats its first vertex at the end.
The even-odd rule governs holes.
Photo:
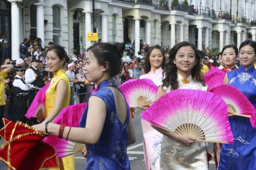
POLYGON ((218 69, 218 67, 210 69, 210 71, 203 75, 203 80, 208 86, 208 91, 218 85, 222 85, 225 75, 224 71, 218 69))

